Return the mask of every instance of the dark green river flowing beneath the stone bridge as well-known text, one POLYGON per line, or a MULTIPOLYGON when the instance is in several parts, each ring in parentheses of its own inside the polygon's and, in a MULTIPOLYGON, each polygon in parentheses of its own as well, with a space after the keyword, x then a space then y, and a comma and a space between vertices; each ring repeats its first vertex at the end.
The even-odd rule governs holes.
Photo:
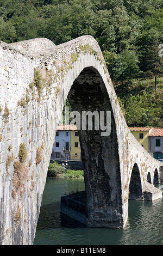
POLYGON ((60 216, 60 197, 83 191, 84 181, 47 178, 34 245, 163 245, 163 200, 129 200, 124 229, 90 228, 60 216))

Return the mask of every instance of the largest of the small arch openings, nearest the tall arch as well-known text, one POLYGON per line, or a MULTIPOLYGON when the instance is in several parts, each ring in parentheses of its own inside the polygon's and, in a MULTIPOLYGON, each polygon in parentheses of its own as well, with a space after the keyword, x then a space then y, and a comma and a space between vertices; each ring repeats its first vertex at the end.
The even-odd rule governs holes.
POLYGON ((134 167, 131 173, 129 192, 130 192, 129 194, 130 200, 135 200, 140 196, 142 196, 140 171, 139 171, 139 167, 137 166, 137 163, 134 164, 134 167))

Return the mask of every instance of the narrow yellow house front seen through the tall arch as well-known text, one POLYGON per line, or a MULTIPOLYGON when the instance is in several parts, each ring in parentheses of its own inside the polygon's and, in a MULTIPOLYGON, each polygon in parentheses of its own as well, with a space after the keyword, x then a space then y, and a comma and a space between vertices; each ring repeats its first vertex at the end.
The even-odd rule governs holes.
POLYGON ((79 142, 79 135, 76 125, 74 125, 73 129, 71 129, 71 154, 70 160, 82 160, 81 148, 79 142))

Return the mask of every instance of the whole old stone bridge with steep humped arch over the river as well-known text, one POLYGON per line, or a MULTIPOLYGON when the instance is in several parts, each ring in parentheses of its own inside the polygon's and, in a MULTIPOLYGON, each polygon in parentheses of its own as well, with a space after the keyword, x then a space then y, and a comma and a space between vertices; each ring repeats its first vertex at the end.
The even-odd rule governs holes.
POLYGON ((55 46, 0 42, 0 244, 32 245, 57 123, 73 111, 108 111, 111 131, 79 130, 88 226, 124 228, 128 200, 161 198, 161 162, 128 129, 92 36, 55 46), (58 117, 56 119, 56 113, 58 117))

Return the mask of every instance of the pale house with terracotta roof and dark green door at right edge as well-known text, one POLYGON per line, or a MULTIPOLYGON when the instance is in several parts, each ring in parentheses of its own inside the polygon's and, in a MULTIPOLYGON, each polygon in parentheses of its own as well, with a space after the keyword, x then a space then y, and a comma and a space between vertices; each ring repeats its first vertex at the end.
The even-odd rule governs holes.
POLYGON ((163 159, 163 129, 153 128, 149 134, 149 154, 155 159, 163 159))

